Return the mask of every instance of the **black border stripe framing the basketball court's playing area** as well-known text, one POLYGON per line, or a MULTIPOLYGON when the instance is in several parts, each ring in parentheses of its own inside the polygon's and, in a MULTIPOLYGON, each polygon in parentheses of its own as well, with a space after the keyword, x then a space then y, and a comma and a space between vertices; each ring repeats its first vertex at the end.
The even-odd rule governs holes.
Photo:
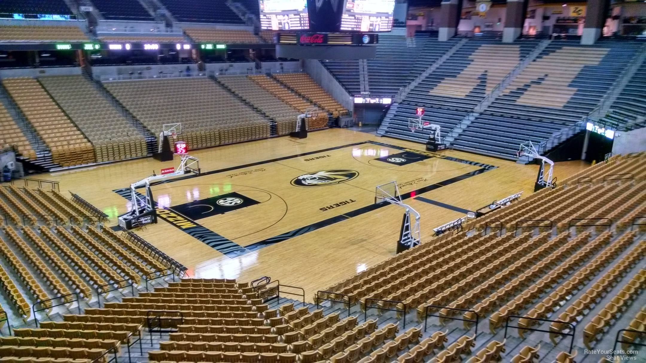
MULTIPOLYGON (((154 182, 154 183, 151 184, 151 186, 160 185, 160 184, 167 184, 167 183, 176 182, 176 181, 183 181, 183 180, 186 180, 186 179, 193 179, 193 178, 198 178, 198 177, 202 177, 202 176, 205 176, 205 175, 212 175, 212 174, 216 174, 216 173, 229 172, 231 170, 249 168, 251 166, 269 164, 270 162, 293 159, 295 157, 302 157, 302 156, 312 155, 312 154, 315 154, 315 153, 328 152, 328 151, 331 151, 331 150, 339 150, 339 149, 348 148, 348 147, 351 147, 351 146, 359 146, 361 144, 373 144, 373 145, 377 145, 377 146, 385 146, 385 147, 396 149, 396 150, 417 152, 417 153, 421 153, 422 155, 438 157, 440 159, 446 159, 448 161, 455 161, 455 162, 460 162, 462 164, 469 164, 469 165, 474 165, 474 166, 479 166, 480 167, 479 169, 474 170, 472 172, 464 173, 462 175, 458 175, 457 177, 452 177, 450 179, 446 179, 444 181, 437 182, 435 184, 431 184, 431 185, 428 185, 428 186, 424 186, 424 187, 419 188, 417 190, 409 191, 408 193, 404 193, 404 194, 401 195, 402 200, 410 199, 412 196, 415 196, 415 195, 418 195, 418 194, 421 194, 421 193, 426 193, 427 191, 439 189, 439 188, 442 188, 443 186, 453 184, 454 182, 463 181, 464 179, 468 179, 470 177, 474 177, 475 175, 479 175, 481 173, 485 173, 485 172, 488 172, 489 170, 494 170, 495 168, 497 168, 497 166, 490 165, 490 164, 484 164, 482 162, 468 161, 468 160, 464 160, 464 159, 459 159, 457 157, 450 157, 450 156, 446 156, 446 155, 442 155, 442 154, 438 154, 438 153, 430 153, 430 152, 425 152, 425 151, 421 151, 421 150, 405 148, 403 146, 386 144, 384 142, 377 142, 377 141, 368 140, 368 141, 362 141, 362 142, 353 142, 351 144, 345 144, 345 145, 341 145, 341 146, 335 146, 333 148, 315 150, 315 151, 312 151, 312 152, 298 153, 296 155, 291 155, 291 156, 278 157, 278 158, 269 159, 269 160, 266 160, 266 161, 251 162, 249 164, 231 166, 229 168, 223 168, 223 169, 218 169, 218 170, 211 170, 210 172, 200 173, 200 175, 195 175, 195 174, 184 175, 183 177, 179 177, 179 178, 176 178, 176 179, 170 179, 170 180, 167 180, 167 181, 154 182)), ((119 195, 121 195, 121 197, 124 197, 125 199, 130 199, 130 188, 121 188, 121 189, 114 190, 114 192, 118 193, 119 195)), ((156 202, 155 202, 155 205, 156 205, 156 202)), ((205 228, 204 226, 202 226, 198 222, 195 222, 192 219, 186 218, 185 216, 182 216, 182 217, 187 219, 187 221, 192 222, 196 226, 191 227, 191 228, 180 228, 180 230, 185 231, 186 233, 191 235, 191 237, 193 237, 194 239, 200 240, 200 242, 203 242, 204 244, 207 244, 208 246, 211 246, 212 248, 214 248, 215 250, 217 250, 220 253, 224 254, 225 256, 230 257, 230 258, 234 258, 234 257, 238 257, 238 256, 241 256, 241 255, 245 255, 247 253, 250 253, 251 251, 257 251, 257 250, 260 250, 261 248, 265 248, 267 246, 272 246, 272 245, 274 245, 276 243, 283 242, 284 240, 288 240, 288 239, 292 239, 294 237, 298 237, 300 235, 304 235, 305 233, 318 230, 319 228, 330 226, 331 224, 346 221, 347 219, 350 219, 352 217, 357 217, 357 215, 362 215, 364 213, 368 213, 370 211, 377 210, 379 208, 383 208, 383 207, 389 206, 389 205, 390 205, 390 203, 388 203, 388 202, 380 202, 380 203, 377 203, 377 204, 370 204, 368 206, 364 206, 362 208, 359 208, 359 209, 356 209, 356 210, 353 210, 353 211, 349 211, 347 213, 337 215, 335 217, 330 217, 328 219, 324 219, 323 221, 314 222, 312 224, 309 224, 308 226, 300 227, 300 228, 297 228, 295 230, 292 230, 292 231, 289 231, 289 232, 286 232, 286 233, 282 233, 282 234, 277 235, 275 237, 270 237, 268 239, 255 242, 253 244, 249 244, 249 245, 244 246, 244 247, 240 246, 236 242, 233 242, 232 240, 226 239, 222 235, 219 235, 218 233, 216 233, 214 231, 211 231, 208 228, 205 228)), ((172 210, 172 207, 165 208, 165 209, 172 210)), ((174 212, 177 213, 176 211, 174 211, 174 212)), ((180 213, 178 213, 178 214, 181 215, 180 213)), ((167 221, 166 219, 163 219, 163 220, 168 222, 169 224, 172 224, 172 222, 167 221)))

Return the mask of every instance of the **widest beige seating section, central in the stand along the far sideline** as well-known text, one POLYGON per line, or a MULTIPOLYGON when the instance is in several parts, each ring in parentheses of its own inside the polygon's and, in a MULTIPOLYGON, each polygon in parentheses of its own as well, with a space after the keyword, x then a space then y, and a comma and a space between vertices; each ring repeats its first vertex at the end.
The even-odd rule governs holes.
POLYGON ((269 137, 269 121, 205 77, 105 82, 105 88, 151 132, 182 123, 191 148, 269 137))

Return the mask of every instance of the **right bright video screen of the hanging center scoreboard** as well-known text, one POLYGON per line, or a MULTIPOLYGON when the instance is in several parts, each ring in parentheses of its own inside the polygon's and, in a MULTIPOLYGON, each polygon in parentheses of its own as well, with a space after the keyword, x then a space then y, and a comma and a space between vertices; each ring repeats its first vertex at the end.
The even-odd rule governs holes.
POLYGON ((345 0, 341 29, 349 32, 390 32, 395 0, 345 0))

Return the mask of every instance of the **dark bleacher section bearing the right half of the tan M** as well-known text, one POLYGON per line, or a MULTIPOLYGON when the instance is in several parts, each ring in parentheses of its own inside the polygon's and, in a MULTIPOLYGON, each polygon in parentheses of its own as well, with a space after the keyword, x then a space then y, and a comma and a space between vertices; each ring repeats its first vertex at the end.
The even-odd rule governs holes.
POLYGON ((453 142, 460 150, 516 159, 518 145, 541 143, 581 121, 636 54, 638 44, 581 46, 552 41, 453 142))

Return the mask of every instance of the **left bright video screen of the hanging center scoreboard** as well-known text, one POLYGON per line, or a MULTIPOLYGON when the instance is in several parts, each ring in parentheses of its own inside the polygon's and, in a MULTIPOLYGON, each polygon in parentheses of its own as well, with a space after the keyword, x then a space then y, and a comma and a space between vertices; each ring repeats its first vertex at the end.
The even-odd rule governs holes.
POLYGON ((307 30, 307 0, 259 0, 263 30, 307 30))

